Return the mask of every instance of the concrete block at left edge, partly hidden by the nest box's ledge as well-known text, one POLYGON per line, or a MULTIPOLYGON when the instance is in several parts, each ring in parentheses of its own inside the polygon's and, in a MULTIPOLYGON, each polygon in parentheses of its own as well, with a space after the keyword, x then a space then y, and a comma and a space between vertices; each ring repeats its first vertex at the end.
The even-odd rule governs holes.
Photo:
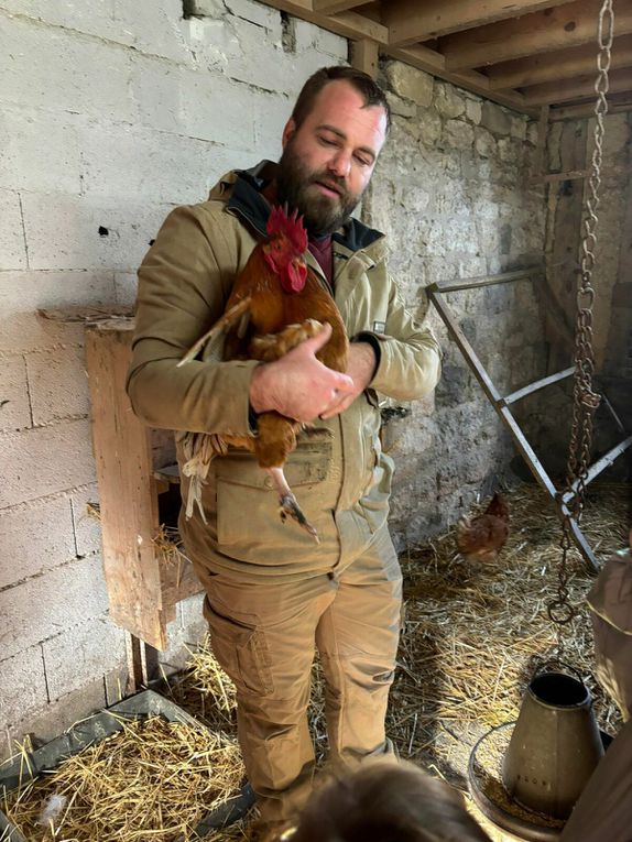
POLYGON ((0 272, 0 353, 84 341, 80 324, 37 316, 37 307, 115 304, 111 272, 0 272))

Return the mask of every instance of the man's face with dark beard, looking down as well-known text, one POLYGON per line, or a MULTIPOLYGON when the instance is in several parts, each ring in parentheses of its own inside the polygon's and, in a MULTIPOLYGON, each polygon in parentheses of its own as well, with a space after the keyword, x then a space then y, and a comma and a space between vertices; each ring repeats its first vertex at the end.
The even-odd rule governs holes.
POLYGON ((298 129, 283 131, 277 198, 297 208, 312 233, 337 230, 360 201, 386 138, 386 114, 364 107, 347 81, 336 80, 318 94, 298 129))

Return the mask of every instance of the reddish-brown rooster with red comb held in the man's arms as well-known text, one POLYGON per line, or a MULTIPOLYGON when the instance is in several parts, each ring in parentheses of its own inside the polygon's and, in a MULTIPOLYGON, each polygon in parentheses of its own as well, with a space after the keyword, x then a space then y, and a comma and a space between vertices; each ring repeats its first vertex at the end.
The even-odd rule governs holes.
MULTIPOLYGON (((224 343, 220 359, 272 362, 329 324, 331 336, 316 356, 329 369, 346 371, 349 341, 345 325, 326 285, 305 261, 307 232, 302 218, 296 211, 288 215, 286 209, 274 207, 266 231, 268 239, 258 243, 235 281, 224 315, 178 365, 190 362, 205 348, 208 358, 209 348, 218 342, 224 343)), ((190 478, 186 516, 192 516, 197 504, 205 520, 201 485, 210 461, 232 446, 254 452, 259 466, 268 471, 279 493, 281 518, 292 517, 318 542, 316 529, 301 511, 283 473, 301 427, 299 422, 265 412, 258 417, 255 437, 183 434, 181 442, 186 459, 183 472, 190 478)))

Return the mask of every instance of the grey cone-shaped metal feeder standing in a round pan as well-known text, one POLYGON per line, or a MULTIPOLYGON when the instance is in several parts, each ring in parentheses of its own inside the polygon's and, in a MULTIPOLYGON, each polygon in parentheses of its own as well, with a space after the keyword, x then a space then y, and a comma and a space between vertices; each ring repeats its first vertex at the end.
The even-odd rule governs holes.
POLYGON ((502 764, 502 783, 523 807, 567 819, 603 745, 588 688, 559 671, 536 675, 502 764))

